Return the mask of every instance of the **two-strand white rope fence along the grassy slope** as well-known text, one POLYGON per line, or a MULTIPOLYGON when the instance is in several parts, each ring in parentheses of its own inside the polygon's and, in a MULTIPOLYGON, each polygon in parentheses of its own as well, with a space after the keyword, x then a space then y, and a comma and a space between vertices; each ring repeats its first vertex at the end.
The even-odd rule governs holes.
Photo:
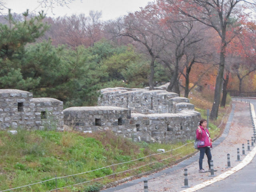
MULTIPOLYGON (((120 164, 126 164, 126 163, 130 163, 130 162, 142 160, 142 159, 145 159, 145 158, 148 158, 148 157, 151 157, 151 156, 156 156, 156 155, 159 155, 159 154, 164 154, 164 153, 168 153, 168 152, 172 152, 172 151, 178 150, 178 149, 180 149, 180 148, 182 148, 182 147, 184 147, 184 146, 186 146, 186 145, 188 145, 188 144, 192 144, 192 143, 194 143, 194 142, 189 142, 189 143, 186 143, 186 144, 184 144, 184 145, 182 145, 182 146, 180 146, 180 147, 178 147, 178 148, 175 148, 175 149, 171 149, 171 150, 168 150, 168 151, 165 151, 165 152, 156 153, 156 154, 150 154, 150 155, 148 155, 148 156, 144 156, 144 157, 142 157, 142 158, 130 160, 130 161, 127 161, 127 162, 112 164, 112 165, 105 166, 105 167, 102 167, 102 168, 98 168, 98 169, 95 169, 95 170, 90 170, 90 171, 86 171, 86 172, 82 172, 82 173, 77 173, 77 174, 72 174, 72 175, 68 175, 68 176, 55 177, 55 178, 52 178, 52 179, 48 179, 48 180, 44 180, 44 181, 40 181, 40 182, 28 184, 28 185, 16 187, 16 188, 1 190, 0 192, 15 190, 15 189, 19 189, 19 188, 24 188, 24 187, 36 185, 36 184, 42 184, 42 183, 44 183, 44 182, 48 182, 48 181, 51 181, 51 180, 56 180, 56 179, 60 179, 60 178, 67 178, 67 177, 71 177, 71 176, 86 174, 86 173, 94 172, 94 171, 97 171, 97 170, 101 170, 101 169, 104 169, 104 168, 109 168, 109 167, 116 166, 116 165, 120 165, 120 164)), ((157 162, 161 162, 161 161, 164 161, 164 160, 168 160, 168 159, 170 159, 170 158, 174 158, 174 157, 176 157, 176 156, 178 156, 178 155, 180 155, 180 154, 177 154, 177 155, 175 155, 175 156, 170 156, 170 157, 168 157, 168 158, 165 158, 165 159, 162 159, 162 160, 159 160, 159 161, 151 162, 151 163, 149 163, 149 164, 145 164, 145 165, 142 165, 142 166, 139 166, 139 167, 136 167, 136 168, 132 168, 132 169, 130 169, 130 170, 124 170, 124 171, 121 171, 121 172, 113 173, 113 174, 106 175, 106 176, 103 176, 103 177, 100 177, 100 178, 96 178, 96 179, 93 179, 93 180, 89 180, 89 181, 86 181, 86 182, 81 182, 81 183, 78 183, 78 184, 73 184, 73 185, 65 186, 65 187, 62 187, 62 188, 67 188, 67 187, 71 187, 71 186, 76 186, 76 185, 79 185, 79 184, 84 184, 84 183, 87 183, 87 182, 92 182, 92 181, 94 181, 94 180, 99 180, 99 179, 102 179, 102 178, 105 178, 105 177, 108 177, 108 176, 112 176, 112 175, 115 175, 115 174, 120 174, 120 173, 123 173, 123 172, 128 172, 128 171, 135 170, 135 169, 138 169, 138 168, 141 168, 141 167, 144 167, 144 166, 148 166, 148 165, 150 165, 150 164, 154 164, 154 163, 157 163, 157 162)), ((54 191, 54 190, 58 190, 58 189, 62 189, 62 188, 56 188, 56 189, 53 189, 53 190, 50 190, 50 191, 54 191)), ((49 192, 50 192, 50 191, 49 191, 49 192)))

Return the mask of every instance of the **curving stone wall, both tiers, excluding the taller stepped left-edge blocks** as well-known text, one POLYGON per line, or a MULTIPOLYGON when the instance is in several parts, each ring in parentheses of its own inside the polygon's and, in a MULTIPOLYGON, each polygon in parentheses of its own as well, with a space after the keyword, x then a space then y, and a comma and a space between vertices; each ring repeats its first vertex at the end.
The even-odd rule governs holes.
POLYGON ((65 124, 84 132, 112 130, 134 141, 174 143, 194 139, 200 113, 194 111, 188 98, 163 88, 116 87, 103 89, 101 94, 98 107, 65 109, 65 124))

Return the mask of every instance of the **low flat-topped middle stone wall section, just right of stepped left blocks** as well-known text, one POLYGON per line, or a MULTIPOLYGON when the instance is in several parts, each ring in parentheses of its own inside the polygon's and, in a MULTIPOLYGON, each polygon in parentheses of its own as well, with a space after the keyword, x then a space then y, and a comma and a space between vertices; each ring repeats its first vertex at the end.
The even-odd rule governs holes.
POLYGON ((64 110, 65 124, 78 131, 112 130, 126 134, 130 118, 129 110, 121 107, 70 107, 64 110))

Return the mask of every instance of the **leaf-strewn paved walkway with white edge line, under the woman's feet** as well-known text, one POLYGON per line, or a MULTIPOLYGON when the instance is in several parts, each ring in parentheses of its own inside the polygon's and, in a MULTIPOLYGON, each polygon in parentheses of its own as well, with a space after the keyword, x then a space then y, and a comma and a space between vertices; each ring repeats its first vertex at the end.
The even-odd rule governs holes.
MULTIPOLYGON (((256 105, 256 100, 252 100, 251 102, 254 106, 256 105)), ((256 106, 254 109, 256 109, 256 106)), ((148 180, 149 192, 206 191, 204 190, 204 187, 208 186, 207 188, 211 188, 211 186, 215 186, 220 182, 218 180, 226 180, 230 178, 231 176, 226 178, 228 174, 234 174, 240 169, 237 166, 241 167, 242 165, 243 167, 246 162, 248 162, 248 158, 251 156, 250 154, 252 152, 249 153, 248 151, 246 152, 246 156, 240 156, 243 162, 241 163, 236 161, 237 148, 242 148, 242 144, 247 146, 247 141, 251 138, 252 133, 252 119, 250 117, 249 105, 246 102, 240 102, 240 99, 234 100, 225 130, 222 136, 213 142, 212 156, 214 160, 214 168, 218 170, 215 173, 215 177, 209 177, 209 173, 198 173, 199 154, 197 153, 193 157, 184 160, 173 167, 166 168, 160 172, 150 174, 136 180, 122 183, 116 187, 102 190, 102 192, 143 192, 144 180, 148 180), (227 154, 230 154, 232 168, 227 168, 227 154), (184 187, 184 168, 188 169, 188 184, 190 188, 182 188, 184 187), (211 182, 212 184, 210 184, 211 182)), ((256 153, 256 148, 254 151, 256 153)), ((207 169, 206 165, 207 158, 204 158, 204 169, 207 169)), ((242 180, 244 180, 244 178, 242 178, 242 180)), ((219 189, 213 190, 222 191, 219 189)), ((233 189, 232 191, 240 190, 233 189)))

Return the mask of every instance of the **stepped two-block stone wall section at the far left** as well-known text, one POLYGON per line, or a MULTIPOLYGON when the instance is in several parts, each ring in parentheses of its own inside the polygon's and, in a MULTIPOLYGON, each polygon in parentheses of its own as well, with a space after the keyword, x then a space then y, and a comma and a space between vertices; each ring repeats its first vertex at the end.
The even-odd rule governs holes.
POLYGON ((32 98, 16 89, 0 89, 0 129, 28 130, 63 128, 63 102, 54 98, 32 98))

